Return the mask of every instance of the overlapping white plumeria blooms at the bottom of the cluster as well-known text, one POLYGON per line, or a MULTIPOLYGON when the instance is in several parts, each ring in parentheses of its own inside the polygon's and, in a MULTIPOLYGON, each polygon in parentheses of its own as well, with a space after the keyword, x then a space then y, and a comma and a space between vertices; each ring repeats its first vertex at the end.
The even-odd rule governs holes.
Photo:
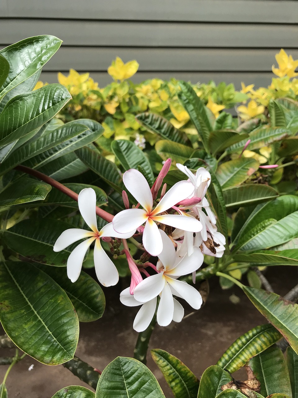
POLYGON ((120 295, 120 300, 128 306, 142 305, 134 322, 134 329, 145 330, 155 313, 157 296, 161 300, 157 309, 157 323, 167 326, 174 319, 180 322, 184 310, 173 295, 184 298, 196 310, 202 305, 200 293, 188 283, 178 281, 177 278, 196 271, 203 263, 203 254, 198 248, 193 256, 181 258, 176 254, 172 240, 163 230, 159 230, 163 241, 163 250, 159 254, 157 270, 159 273, 151 275, 139 283, 134 289, 134 300, 128 297, 129 288, 120 295))

